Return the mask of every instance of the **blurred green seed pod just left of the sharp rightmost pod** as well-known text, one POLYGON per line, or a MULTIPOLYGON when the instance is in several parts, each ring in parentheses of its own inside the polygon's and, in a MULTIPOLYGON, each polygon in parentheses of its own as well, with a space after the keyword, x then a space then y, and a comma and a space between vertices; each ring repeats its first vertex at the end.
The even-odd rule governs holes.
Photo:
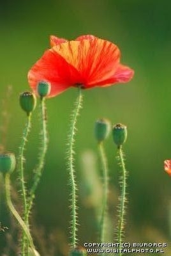
POLYGON ((99 143, 105 140, 109 132, 110 132, 110 122, 105 118, 98 119, 95 123, 96 140, 98 140, 99 143))

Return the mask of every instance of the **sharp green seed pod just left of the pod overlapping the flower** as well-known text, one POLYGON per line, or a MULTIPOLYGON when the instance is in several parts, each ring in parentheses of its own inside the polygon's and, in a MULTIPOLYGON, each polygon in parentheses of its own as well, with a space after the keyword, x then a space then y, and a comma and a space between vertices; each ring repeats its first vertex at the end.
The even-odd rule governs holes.
POLYGON ((20 93, 20 106, 26 111, 27 115, 34 110, 36 107, 36 97, 32 92, 20 93))

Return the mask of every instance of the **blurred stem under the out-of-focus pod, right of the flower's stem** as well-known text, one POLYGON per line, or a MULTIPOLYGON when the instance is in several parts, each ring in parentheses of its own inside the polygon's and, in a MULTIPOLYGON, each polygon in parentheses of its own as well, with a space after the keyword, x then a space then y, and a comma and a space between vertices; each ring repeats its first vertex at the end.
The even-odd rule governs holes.
POLYGON ((99 143, 99 152, 103 172, 103 199, 102 199, 102 210, 100 219, 100 242, 105 242, 105 218, 107 212, 107 196, 108 196, 108 164, 103 142, 99 143))

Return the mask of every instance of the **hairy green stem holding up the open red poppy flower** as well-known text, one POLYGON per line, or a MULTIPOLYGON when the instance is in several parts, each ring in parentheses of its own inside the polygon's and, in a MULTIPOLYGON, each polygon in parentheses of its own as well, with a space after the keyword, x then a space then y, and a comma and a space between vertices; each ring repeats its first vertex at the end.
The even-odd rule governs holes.
POLYGON ((75 109, 71 115, 70 122, 70 132, 68 135, 68 170, 70 174, 70 186, 71 186, 71 249, 75 250, 77 246, 77 185, 75 181, 75 168, 74 168, 74 142, 76 133, 77 117, 79 115, 80 109, 82 108, 82 89, 78 87, 78 97, 75 102, 75 109))

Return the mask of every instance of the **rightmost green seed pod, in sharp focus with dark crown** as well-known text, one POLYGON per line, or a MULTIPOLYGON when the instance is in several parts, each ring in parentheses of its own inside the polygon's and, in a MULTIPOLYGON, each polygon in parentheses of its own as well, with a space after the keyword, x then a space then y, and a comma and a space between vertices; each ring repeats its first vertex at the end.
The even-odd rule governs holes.
POLYGON ((127 128, 126 125, 123 124, 116 124, 112 128, 112 134, 114 143, 117 145, 118 148, 123 145, 127 138, 127 128))

